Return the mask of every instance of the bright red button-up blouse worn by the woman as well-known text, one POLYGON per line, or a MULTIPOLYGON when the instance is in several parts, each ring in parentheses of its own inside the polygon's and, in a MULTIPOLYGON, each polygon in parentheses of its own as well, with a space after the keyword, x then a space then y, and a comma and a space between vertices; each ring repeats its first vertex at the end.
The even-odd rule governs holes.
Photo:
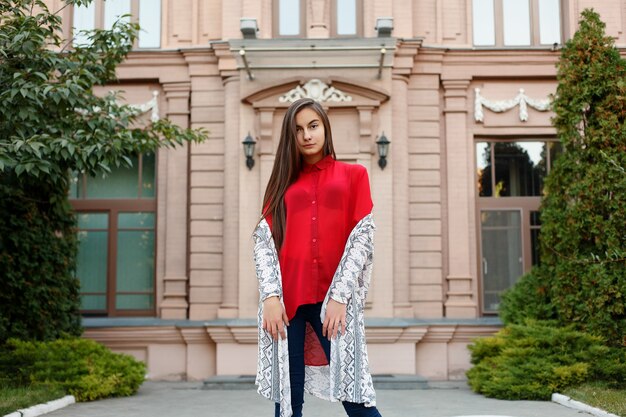
MULTIPOLYGON (((324 301, 350 232, 372 207, 362 165, 338 162, 330 155, 304 165, 285 193, 286 227, 279 253, 289 319, 299 306, 324 301)), ((271 228, 271 219, 267 221, 271 228)))

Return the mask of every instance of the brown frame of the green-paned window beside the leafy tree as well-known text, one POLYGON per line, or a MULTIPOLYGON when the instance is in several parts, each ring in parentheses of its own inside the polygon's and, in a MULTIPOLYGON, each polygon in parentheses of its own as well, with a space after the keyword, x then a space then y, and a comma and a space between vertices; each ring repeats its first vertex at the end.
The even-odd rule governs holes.
MULTIPOLYGON (((158 166, 158 153, 154 153, 155 158, 155 186, 157 183, 158 166)), ((106 309, 105 310, 80 310, 82 316, 89 317, 156 317, 157 312, 157 254, 158 254, 158 215, 157 215, 157 202, 158 202, 158 189, 155 189, 153 197, 142 198, 142 181, 141 176, 143 173, 143 158, 138 158, 139 163, 135 167, 138 173, 138 197, 137 198, 101 198, 96 199, 87 198, 85 193, 87 187, 88 178, 85 174, 79 176, 80 187, 82 192, 79 194, 80 198, 70 198, 70 204, 76 215, 87 213, 106 213, 108 214, 108 227, 107 227, 107 274, 106 274, 106 309), (117 309, 116 296, 117 294, 117 239, 118 239, 118 214, 119 213, 154 213, 154 265, 153 265, 153 303, 150 309, 117 309)), ((81 229, 77 228, 77 232, 81 229)), ((102 229, 104 230, 104 229, 102 229)), ((82 292, 80 295, 82 296, 82 292)))

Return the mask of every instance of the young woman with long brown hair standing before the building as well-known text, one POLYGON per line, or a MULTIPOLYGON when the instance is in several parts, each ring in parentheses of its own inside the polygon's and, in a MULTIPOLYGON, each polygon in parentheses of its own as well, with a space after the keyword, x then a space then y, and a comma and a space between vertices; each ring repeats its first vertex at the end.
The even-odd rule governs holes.
POLYGON ((276 417, 302 416, 304 391, 380 417, 363 308, 374 223, 367 171, 335 160, 328 117, 294 102, 254 232, 259 280, 258 391, 276 417))

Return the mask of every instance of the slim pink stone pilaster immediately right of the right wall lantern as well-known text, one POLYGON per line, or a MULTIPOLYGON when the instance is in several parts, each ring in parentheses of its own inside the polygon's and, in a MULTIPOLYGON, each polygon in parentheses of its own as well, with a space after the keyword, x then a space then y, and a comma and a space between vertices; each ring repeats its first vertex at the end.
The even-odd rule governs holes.
POLYGON ((393 169, 393 307, 394 317, 413 317, 409 302, 409 149, 408 149, 408 77, 392 76, 393 112, 391 161, 393 169))

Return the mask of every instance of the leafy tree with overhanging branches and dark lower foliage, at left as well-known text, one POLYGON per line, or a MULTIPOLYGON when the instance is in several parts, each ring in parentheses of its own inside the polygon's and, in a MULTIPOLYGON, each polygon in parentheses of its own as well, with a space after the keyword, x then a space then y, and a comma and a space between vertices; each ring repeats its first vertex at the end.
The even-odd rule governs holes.
POLYGON ((94 94, 115 81, 137 25, 119 21, 72 47, 58 12, 41 0, 0 0, 0 16, 0 341, 77 334, 69 173, 102 175, 205 133, 168 120, 142 124, 119 94, 94 94))

